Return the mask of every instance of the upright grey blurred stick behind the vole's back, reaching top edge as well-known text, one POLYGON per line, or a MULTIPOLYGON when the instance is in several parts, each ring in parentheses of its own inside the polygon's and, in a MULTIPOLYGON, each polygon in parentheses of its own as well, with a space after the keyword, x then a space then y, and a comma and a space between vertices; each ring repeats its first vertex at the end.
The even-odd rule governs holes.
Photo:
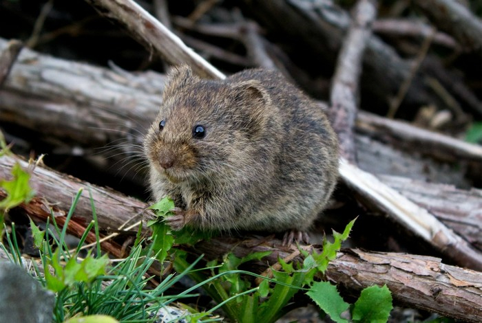
POLYGON ((338 56, 330 96, 336 113, 333 126, 337 129, 340 155, 356 163, 353 131, 357 115, 358 82, 366 43, 371 35, 370 24, 377 16, 376 2, 360 0, 353 12, 352 24, 338 56))

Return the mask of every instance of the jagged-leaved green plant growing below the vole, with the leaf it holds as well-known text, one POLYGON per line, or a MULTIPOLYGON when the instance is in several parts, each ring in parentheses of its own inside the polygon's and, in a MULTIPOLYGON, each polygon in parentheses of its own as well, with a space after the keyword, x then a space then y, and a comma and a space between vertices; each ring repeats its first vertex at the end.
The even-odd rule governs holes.
MULTIPOLYGON (((160 219, 170 215, 174 203, 163 199, 153 207, 160 219)), ((158 221, 160 225, 162 220, 158 221)), ((223 262, 218 264, 213 260, 207 264, 209 274, 204 271, 192 271, 189 276, 202 285, 209 296, 218 302, 224 313, 233 322, 275 322, 287 311, 291 310, 289 302, 297 292, 305 292, 325 313, 335 322, 348 322, 342 318, 342 313, 348 312, 353 322, 386 322, 392 310, 390 291, 384 287, 369 287, 362 291, 361 296, 351 305, 339 295, 336 287, 329 282, 315 281, 316 275, 324 273, 328 263, 336 258, 342 242, 348 238, 355 220, 346 225, 342 234, 333 232, 333 243, 324 239, 323 251, 320 254, 302 251, 304 262, 295 269, 293 264, 280 259, 282 270, 273 270, 273 278, 265 278, 238 268, 251 260, 260 260, 270 252, 256 252, 244 258, 227 254, 223 262), (218 277, 216 280, 212 278, 218 277), (253 287, 253 280, 249 277, 263 278, 259 286, 253 287), (210 280, 210 281, 209 281, 210 280), (209 284, 205 282, 209 281, 209 284)), ((172 234, 169 228, 163 227, 162 234, 172 234)), ((181 234, 182 235, 182 234, 181 234)), ((160 237, 162 238, 162 237, 160 237)), ((154 237, 154 240, 157 238, 154 237)), ((169 248, 176 239, 169 238, 169 248)), ((184 271, 190 264, 187 254, 177 250, 174 253, 174 267, 184 271)), ((213 311, 213 309, 211 309, 213 311)))

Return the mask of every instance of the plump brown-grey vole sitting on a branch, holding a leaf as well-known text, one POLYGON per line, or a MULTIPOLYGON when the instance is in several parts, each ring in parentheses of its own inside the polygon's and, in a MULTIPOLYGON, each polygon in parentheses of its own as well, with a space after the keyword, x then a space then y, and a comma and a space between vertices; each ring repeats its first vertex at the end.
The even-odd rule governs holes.
POLYGON ((169 74, 144 142, 150 188, 174 200, 173 230, 306 230, 335 188, 337 136, 326 115, 276 71, 224 80, 169 74))

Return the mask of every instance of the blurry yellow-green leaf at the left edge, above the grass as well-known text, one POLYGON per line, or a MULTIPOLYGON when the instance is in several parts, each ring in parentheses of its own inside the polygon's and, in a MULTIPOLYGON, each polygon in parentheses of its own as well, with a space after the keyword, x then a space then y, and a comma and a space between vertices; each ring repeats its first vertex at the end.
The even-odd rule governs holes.
POLYGON ((28 183, 30 174, 25 172, 20 164, 13 166, 12 175, 11 181, 0 181, 0 187, 7 192, 7 197, 0 201, 0 209, 3 210, 10 210, 23 202, 28 203, 34 197, 34 191, 28 183))

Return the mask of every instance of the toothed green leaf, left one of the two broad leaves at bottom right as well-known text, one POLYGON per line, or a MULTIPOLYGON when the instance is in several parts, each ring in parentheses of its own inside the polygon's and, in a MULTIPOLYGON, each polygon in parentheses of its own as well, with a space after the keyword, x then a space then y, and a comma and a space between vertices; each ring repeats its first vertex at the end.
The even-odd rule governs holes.
POLYGON ((349 304, 343 300, 342 296, 339 296, 336 286, 329 282, 315 282, 306 294, 330 316, 331 320, 348 322, 340 315, 348 309, 349 304))

